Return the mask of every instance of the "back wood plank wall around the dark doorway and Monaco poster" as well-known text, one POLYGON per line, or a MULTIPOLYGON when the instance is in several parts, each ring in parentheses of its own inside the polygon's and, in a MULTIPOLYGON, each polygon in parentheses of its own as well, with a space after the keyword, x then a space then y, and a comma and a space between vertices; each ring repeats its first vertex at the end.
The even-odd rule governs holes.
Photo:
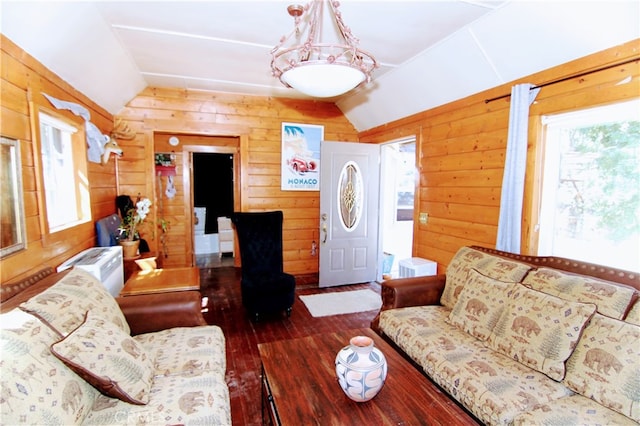
MULTIPOLYGON (((156 193, 153 178, 153 153, 176 151, 177 165, 182 166, 182 145, 207 145, 189 142, 190 137, 237 138, 240 156, 240 200, 242 211, 282 210, 284 212, 284 269, 295 275, 318 272, 318 258, 311 254, 312 241, 318 241, 319 193, 280 190, 282 122, 319 124, 325 138, 334 141, 357 141, 355 128, 333 103, 269 97, 239 96, 179 89, 147 88, 117 114, 134 129, 138 137, 123 146, 119 165, 119 191, 156 193), (164 135, 160 137, 158 135, 164 135), (181 141, 171 148, 166 139, 175 134, 181 141), (191 136, 190 136, 191 135, 191 136), (134 146, 144 146, 137 150, 134 146), (128 152, 128 148, 134 148, 128 152)), ((218 145, 214 140, 210 146, 218 145)), ((121 145, 122 146, 122 145, 121 145)), ((180 167, 179 167, 180 168, 180 167)), ((164 265, 191 265, 191 218, 180 204, 188 177, 178 176, 176 189, 183 195, 171 201, 168 257, 164 265)), ((158 205, 158 200, 155 204, 158 205)), ((166 201, 166 198, 165 200, 166 201)), ((238 200, 236 200, 238 201, 238 200)), ((167 203, 164 204, 167 207, 167 203)), ((188 208, 188 205, 187 205, 188 208)), ((153 244, 157 244, 154 240, 153 244)), ((154 246, 157 248, 157 246, 154 246)))

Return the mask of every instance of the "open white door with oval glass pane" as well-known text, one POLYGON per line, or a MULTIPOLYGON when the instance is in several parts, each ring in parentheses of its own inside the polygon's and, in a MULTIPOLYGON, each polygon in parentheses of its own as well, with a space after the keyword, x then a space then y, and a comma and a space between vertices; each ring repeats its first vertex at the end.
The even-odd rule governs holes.
POLYGON ((323 141, 320 152, 319 286, 375 281, 380 147, 323 141))

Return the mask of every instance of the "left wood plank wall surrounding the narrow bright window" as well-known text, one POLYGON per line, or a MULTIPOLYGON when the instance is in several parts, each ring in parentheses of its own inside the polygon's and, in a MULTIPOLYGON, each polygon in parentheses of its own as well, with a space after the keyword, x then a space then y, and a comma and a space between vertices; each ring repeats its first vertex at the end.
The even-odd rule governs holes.
MULTIPOLYGON (((91 121, 103 133, 113 128, 113 117, 82 93, 75 90, 57 75, 26 54, 11 40, 0 34, 1 75, 0 133, 20 141, 22 184, 24 191, 26 250, 12 254, 0 261, 0 282, 19 279, 44 266, 56 267, 72 255, 95 245, 93 223, 77 228, 70 238, 50 242, 41 235, 36 159, 29 112, 28 92, 36 102, 50 106, 41 93, 83 105, 91 113, 91 121)), ((55 110, 51 107, 52 110, 55 110)), ((58 111, 78 123, 68 111, 58 111)), ((81 125, 81 124, 80 124, 81 125)), ((115 212, 115 163, 107 165, 88 163, 88 180, 91 193, 91 214, 100 218, 115 212)))

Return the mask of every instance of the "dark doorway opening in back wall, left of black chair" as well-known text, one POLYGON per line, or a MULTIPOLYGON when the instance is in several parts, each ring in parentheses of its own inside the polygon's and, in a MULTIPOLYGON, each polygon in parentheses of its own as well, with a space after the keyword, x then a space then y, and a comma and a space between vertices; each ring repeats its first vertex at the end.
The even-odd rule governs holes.
POLYGON ((193 153, 193 249, 201 268, 233 265, 233 232, 227 229, 234 211, 233 157, 193 153))

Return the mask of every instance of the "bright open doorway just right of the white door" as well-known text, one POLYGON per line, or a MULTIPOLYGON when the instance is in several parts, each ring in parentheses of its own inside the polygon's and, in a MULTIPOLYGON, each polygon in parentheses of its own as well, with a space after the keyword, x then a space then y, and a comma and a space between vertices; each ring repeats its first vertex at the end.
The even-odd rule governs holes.
POLYGON ((399 277, 400 260, 413 252, 416 188, 416 138, 383 144, 380 149, 380 248, 378 279, 399 277))

